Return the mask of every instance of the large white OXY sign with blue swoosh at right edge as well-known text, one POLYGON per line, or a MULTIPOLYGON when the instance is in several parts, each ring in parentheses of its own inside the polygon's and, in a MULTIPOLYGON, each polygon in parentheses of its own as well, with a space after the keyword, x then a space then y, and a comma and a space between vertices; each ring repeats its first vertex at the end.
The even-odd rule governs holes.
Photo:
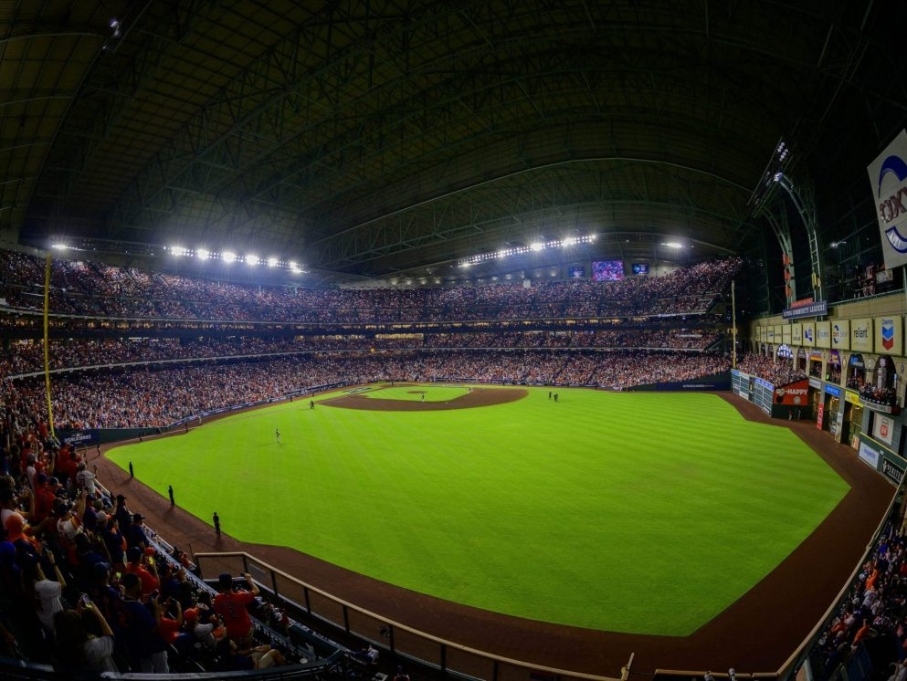
POLYGON ((879 220, 885 268, 907 264, 907 131, 866 167, 879 220))

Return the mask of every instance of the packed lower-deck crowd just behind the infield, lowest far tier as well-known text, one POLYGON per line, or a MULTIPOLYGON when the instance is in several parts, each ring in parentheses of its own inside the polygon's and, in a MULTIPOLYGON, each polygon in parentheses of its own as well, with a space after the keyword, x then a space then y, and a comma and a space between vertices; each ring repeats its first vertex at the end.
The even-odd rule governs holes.
MULTIPOLYGON (((314 388, 375 381, 585 385, 628 390, 726 372, 722 355, 677 351, 385 351, 261 361, 73 372, 53 382, 59 428, 164 427, 198 414, 314 388)), ((0 383, 0 396, 46 414, 40 377, 0 383)))

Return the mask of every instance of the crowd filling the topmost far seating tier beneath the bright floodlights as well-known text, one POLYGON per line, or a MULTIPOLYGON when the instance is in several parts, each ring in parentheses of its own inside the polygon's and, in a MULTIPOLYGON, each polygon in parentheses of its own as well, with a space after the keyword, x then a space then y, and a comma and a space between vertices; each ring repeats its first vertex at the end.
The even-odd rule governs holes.
MULTIPOLYGON (((0 250, 0 298, 43 309, 43 261, 0 250)), ((501 283, 450 288, 260 287, 55 260, 49 308, 103 319, 370 323, 703 314, 742 267, 740 258, 620 281, 501 283)))

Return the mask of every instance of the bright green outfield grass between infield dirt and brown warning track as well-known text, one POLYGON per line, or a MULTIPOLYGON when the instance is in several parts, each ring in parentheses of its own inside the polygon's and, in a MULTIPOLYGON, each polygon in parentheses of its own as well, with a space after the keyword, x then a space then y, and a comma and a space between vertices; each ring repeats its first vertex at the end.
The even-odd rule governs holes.
POLYGON ((199 518, 217 511, 238 540, 490 611, 637 634, 691 634, 848 491, 785 427, 746 422, 716 396, 558 392, 428 412, 281 403, 109 456, 163 499, 172 484, 199 518))

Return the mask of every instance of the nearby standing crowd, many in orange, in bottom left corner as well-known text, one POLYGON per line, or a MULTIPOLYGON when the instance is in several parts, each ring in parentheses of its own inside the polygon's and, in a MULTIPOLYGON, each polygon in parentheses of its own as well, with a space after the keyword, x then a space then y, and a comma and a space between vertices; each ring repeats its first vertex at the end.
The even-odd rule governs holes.
POLYGON ((258 599, 248 575, 206 588, 187 554, 97 484, 46 420, 15 400, 2 411, 0 655, 73 677, 306 661, 285 636, 269 636, 288 618, 258 599), (256 629, 249 612, 267 626, 256 629))

